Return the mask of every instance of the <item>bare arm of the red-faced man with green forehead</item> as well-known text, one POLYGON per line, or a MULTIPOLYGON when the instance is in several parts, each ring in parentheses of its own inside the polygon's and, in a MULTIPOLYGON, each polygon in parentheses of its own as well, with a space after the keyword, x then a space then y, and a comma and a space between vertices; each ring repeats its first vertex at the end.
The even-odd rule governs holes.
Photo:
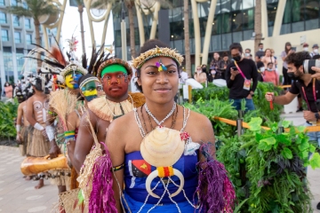
POLYGON ((90 122, 92 123, 93 129, 96 129, 97 116, 93 114, 90 109, 88 109, 81 117, 74 152, 70 153, 73 155, 73 160, 71 160, 72 165, 75 167, 76 172, 78 173, 84 164, 86 155, 90 153, 93 146, 92 130, 87 122, 88 116, 90 122))

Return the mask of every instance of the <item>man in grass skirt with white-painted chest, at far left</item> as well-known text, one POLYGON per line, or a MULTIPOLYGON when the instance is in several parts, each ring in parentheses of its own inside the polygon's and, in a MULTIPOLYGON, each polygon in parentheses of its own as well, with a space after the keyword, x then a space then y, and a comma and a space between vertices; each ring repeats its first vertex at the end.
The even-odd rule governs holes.
MULTIPOLYGON (((34 95, 27 101, 27 121, 34 127, 32 140, 27 148, 27 155, 44 157, 49 154, 50 143, 45 133, 45 122, 48 117, 48 99, 44 93, 42 77, 36 77, 30 82, 35 91, 34 95)), ((36 189, 44 186, 44 176, 40 175, 39 184, 36 189)))

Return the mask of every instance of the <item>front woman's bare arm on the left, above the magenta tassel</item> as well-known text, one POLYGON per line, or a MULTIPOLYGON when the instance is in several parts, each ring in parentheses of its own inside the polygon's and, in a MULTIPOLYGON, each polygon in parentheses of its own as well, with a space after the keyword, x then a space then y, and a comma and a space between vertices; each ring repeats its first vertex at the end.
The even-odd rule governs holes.
MULTIPOLYGON (((108 128, 108 134, 106 138, 106 144, 110 154, 112 166, 118 166, 124 163, 124 140, 121 138, 123 135, 121 130, 118 128, 119 125, 116 121, 112 122, 108 128), (116 128, 117 127, 117 128, 116 128)), ((124 170, 117 170, 113 176, 113 190, 115 193, 116 209, 118 213, 123 212, 120 203, 120 190, 124 187, 124 170)))

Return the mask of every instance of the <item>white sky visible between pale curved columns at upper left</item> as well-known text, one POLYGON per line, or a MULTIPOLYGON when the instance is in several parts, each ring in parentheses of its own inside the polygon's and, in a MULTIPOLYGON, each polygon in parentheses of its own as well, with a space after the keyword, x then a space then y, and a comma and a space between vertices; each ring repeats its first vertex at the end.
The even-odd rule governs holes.
MULTIPOLYGON (((62 3, 62 0, 60 0, 62 3)), ((87 55, 91 55, 92 52, 92 39, 89 28, 89 20, 87 16, 86 9, 84 8, 84 43, 85 43, 85 51, 87 55)), ((93 31, 95 36, 95 41, 99 45, 102 37, 102 30, 104 26, 104 21, 100 23, 93 22, 93 31)), ((81 42, 81 33, 80 33, 80 15, 77 11, 77 7, 69 6, 69 1, 66 6, 65 14, 62 21, 62 29, 61 29, 61 43, 63 47, 68 47, 67 39, 70 39, 72 34, 76 36, 76 40, 79 42, 77 45, 76 56, 80 57, 82 55, 82 42, 81 42)), ((108 28, 107 28, 107 36, 105 44, 109 45, 114 42, 114 30, 113 30, 113 19, 112 13, 109 16, 108 20, 108 28)))

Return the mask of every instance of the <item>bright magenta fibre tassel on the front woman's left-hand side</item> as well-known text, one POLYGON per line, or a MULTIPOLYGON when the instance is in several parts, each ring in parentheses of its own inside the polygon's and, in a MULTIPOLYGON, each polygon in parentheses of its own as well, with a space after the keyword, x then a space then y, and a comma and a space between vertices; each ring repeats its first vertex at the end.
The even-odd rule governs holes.
POLYGON ((105 148, 105 154, 98 157, 93 165, 92 193, 90 194, 89 199, 89 212, 116 212, 116 200, 112 189, 113 180, 111 169, 112 163, 108 150, 105 148))

